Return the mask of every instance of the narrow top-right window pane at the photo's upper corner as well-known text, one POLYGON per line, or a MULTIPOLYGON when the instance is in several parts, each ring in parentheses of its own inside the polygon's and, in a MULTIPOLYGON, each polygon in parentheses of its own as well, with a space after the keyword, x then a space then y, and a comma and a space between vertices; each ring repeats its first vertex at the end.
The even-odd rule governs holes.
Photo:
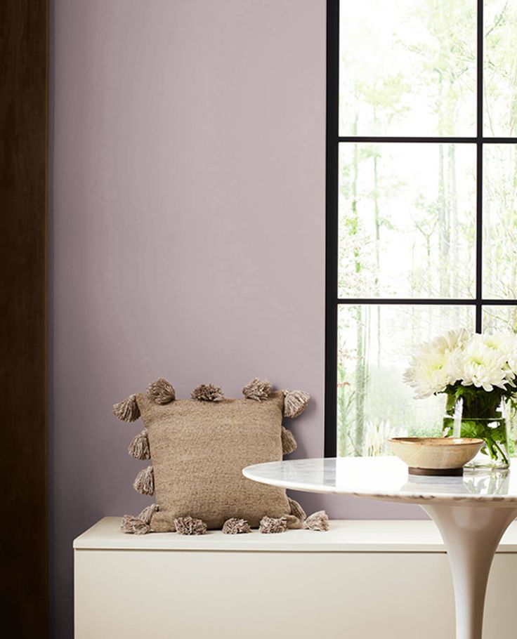
POLYGON ((517 0, 485 1, 485 136, 517 136, 517 0))

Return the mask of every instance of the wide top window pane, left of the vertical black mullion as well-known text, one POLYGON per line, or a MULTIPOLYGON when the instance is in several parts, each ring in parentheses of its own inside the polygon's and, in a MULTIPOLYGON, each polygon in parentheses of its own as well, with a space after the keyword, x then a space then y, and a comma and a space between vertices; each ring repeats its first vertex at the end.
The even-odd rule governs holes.
POLYGON ((476 135, 476 0, 340 5, 342 136, 476 135))

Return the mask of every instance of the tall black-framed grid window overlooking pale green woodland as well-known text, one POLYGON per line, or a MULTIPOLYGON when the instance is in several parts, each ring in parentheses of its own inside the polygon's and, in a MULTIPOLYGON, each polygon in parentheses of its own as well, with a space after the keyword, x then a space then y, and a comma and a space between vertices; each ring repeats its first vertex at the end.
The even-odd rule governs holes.
POLYGON ((440 433, 443 397, 403 383, 416 345, 517 330, 517 0, 328 8, 326 451, 386 454, 440 433))

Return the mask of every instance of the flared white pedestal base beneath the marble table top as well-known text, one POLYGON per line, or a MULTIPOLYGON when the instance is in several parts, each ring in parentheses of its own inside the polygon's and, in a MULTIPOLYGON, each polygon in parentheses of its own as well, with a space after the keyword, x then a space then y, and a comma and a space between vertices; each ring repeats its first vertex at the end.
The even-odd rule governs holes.
POLYGON ((456 601, 456 639, 481 639, 488 574, 504 531, 517 517, 515 506, 488 502, 426 504, 449 555, 456 601))

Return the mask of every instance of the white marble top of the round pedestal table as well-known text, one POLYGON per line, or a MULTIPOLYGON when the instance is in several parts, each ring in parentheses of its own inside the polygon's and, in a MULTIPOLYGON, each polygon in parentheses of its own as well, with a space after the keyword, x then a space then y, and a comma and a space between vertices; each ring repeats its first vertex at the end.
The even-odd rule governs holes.
POLYGON ((517 502, 517 471, 464 470, 463 477, 412 477, 397 457, 292 459, 247 466, 256 482, 302 490, 388 501, 517 502))

